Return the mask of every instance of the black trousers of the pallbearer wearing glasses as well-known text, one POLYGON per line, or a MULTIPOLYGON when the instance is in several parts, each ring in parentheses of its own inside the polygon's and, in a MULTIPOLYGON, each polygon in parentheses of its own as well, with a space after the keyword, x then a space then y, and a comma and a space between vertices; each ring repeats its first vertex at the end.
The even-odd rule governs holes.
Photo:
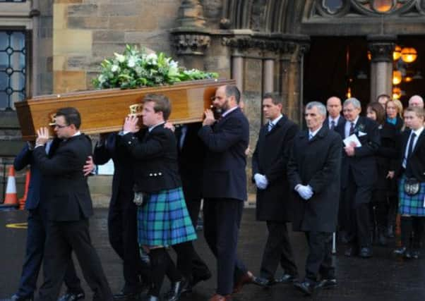
POLYGON ((91 243, 88 219, 49 222, 44 250, 46 278, 37 300, 57 300, 72 251, 76 254, 85 281, 94 293, 93 300, 112 301, 102 264, 91 243))

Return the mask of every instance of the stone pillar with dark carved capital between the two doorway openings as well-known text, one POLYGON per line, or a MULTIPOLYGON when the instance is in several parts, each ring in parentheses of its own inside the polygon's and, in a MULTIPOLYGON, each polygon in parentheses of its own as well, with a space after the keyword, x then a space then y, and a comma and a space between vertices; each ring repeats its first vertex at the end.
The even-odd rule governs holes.
POLYGON ((393 94, 394 35, 370 35, 368 49, 371 51, 371 98, 375 102, 380 94, 393 94))

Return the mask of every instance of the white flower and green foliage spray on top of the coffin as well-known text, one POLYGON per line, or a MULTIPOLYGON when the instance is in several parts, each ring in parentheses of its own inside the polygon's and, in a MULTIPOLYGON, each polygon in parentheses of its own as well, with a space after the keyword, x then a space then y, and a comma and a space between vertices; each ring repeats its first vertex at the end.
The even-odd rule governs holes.
POLYGON ((114 54, 114 58, 101 63, 102 70, 92 82, 98 89, 116 88, 133 89, 172 85, 185 80, 203 80, 218 78, 217 73, 180 67, 172 58, 159 54, 146 54, 136 47, 126 45, 124 54, 114 54))

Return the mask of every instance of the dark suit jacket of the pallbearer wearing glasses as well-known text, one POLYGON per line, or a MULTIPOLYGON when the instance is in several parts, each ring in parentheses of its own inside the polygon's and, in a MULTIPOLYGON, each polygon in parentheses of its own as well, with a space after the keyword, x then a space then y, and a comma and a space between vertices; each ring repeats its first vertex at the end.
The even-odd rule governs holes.
POLYGON ((51 151, 34 149, 34 161, 43 176, 40 196, 46 201, 47 217, 51 221, 78 221, 93 214, 92 199, 83 166, 92 155, 90 138, 84 134, 61 142, 51 151))

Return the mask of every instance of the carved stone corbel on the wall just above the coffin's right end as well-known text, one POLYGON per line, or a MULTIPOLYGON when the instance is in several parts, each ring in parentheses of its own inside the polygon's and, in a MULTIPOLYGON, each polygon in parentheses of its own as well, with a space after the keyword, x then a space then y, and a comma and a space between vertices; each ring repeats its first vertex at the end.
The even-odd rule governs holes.
POLYGON ((210 47, 209 35, 196 33, 174 34, 172 45, 177 54, 204 55, 205 50, 210 47))

